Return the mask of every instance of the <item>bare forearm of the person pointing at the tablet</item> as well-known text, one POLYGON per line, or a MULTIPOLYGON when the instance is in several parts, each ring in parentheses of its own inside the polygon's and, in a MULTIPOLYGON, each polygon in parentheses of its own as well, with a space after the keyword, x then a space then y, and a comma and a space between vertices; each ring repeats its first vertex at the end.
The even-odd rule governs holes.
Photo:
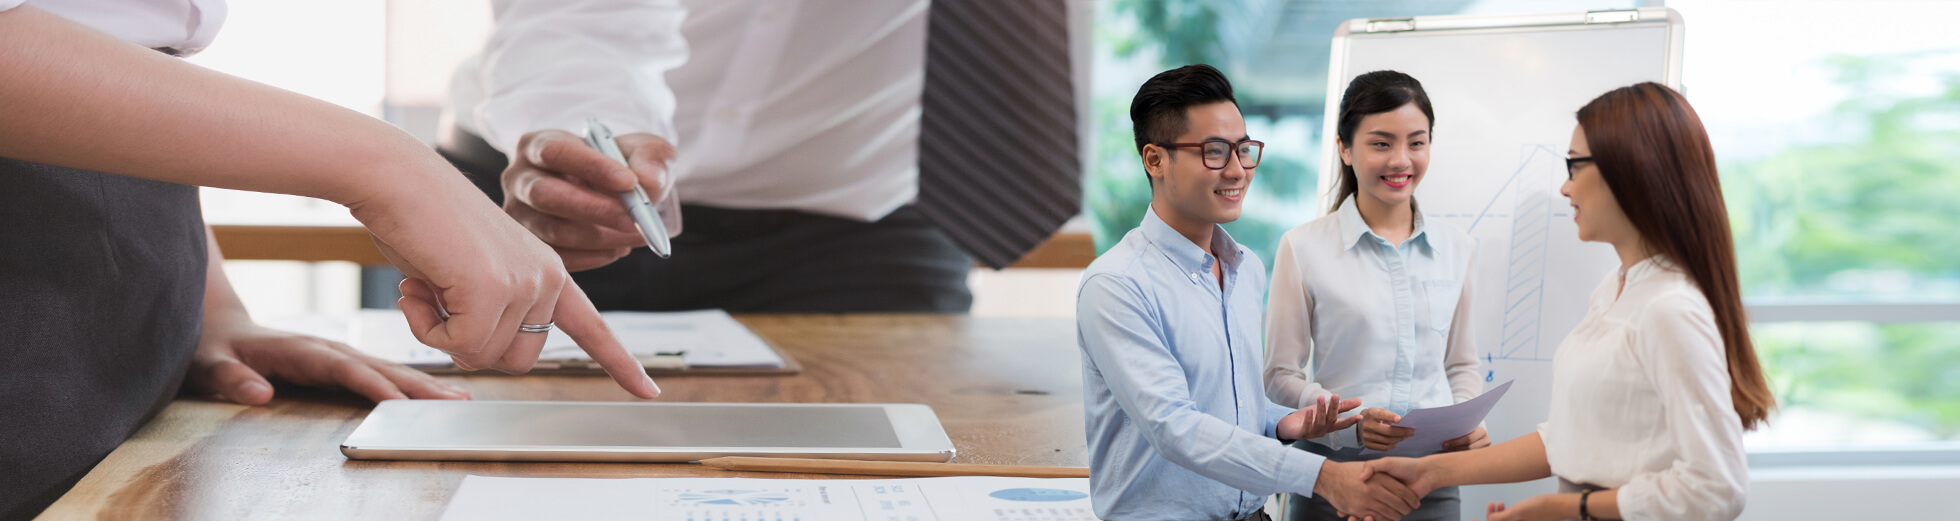
POLYGON ((0 12, 0 157, 339 204, 447 168, 374 118, 33 6, 0 12))

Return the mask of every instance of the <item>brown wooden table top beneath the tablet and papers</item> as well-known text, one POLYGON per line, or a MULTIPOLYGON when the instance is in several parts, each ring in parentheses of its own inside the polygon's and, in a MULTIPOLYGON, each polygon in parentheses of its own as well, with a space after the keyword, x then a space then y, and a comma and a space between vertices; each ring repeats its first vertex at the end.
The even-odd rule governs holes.
MULTIPOLYGON (((1088 464, 1074 323, 964 315, 739 317, 796 376, 668 376, 664 402, 915 402, 956 462, 1088 464)), ((476 400, 631 400, 608 378, 459 376, 476 400)), ((365 462, 339 443, 372 403, 278 388, 245 407, 176 400, 63 496, 47 519, 435 519, 465 474, 533 478, 833 478, 700 464, 365 462)), ((796 429, 796 425, 784 425, 796 429)))

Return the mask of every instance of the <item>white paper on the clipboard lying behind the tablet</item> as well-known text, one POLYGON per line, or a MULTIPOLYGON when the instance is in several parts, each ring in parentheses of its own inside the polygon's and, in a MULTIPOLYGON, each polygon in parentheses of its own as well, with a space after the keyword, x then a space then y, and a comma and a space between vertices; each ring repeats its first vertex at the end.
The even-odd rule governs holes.
MULTIPOLYGON (((780 368, 782 356, 755 331, 735 321, 727 311, 606 311, 600 313, 619 343, 635 356, 682 353, 688 366, 768 366, 780 368)), ((270 321, 290 329, 341 341, 368 355, 408 366, 447 366, 449 355, 416 341, 408 317, 400 311, 363 309, 355 315, 302 315, 270 321)), ((564 331, 551 329, 541 360, 590 360, 564 331)))

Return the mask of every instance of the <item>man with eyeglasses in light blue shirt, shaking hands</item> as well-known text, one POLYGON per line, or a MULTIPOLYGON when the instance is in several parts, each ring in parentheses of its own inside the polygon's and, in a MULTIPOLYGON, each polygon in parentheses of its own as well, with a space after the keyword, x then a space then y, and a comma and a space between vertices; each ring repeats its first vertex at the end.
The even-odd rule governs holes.
POLYGON ((1096 515, 1268 519, 1278 492, 1382 521, 1409 513, 1419 497, 1401 482, 1362 482, 1356 462, 1286 445, 1352 425, 1339 396, 1286 409, 1260 388, 1266 268, 1219 225, 1239 219, 1264 143, 1231 82, 1209 65, 1156 74, 1129 118, 1151 208, 1076 298, 1096 515))

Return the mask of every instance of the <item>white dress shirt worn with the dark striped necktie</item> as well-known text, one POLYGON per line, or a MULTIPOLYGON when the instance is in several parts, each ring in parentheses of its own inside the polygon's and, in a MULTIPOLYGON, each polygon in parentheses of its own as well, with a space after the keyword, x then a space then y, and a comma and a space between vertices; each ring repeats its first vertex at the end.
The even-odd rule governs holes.
POLYGON ((917 196, 927 0, 496 0, 451 118, 506 155, 602 118, 682 202, 874 221, 917 196))

